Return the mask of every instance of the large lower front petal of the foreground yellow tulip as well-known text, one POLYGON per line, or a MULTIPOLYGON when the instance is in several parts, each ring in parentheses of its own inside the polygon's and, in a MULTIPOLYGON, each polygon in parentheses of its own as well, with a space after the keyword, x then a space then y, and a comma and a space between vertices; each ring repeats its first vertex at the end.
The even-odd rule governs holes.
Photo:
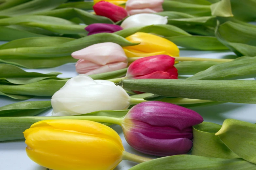
POLYGON ((111 139, 49 127, 32 130, 26 144, 31 160, 55 170, 109 170, 123 155, 111 139))

